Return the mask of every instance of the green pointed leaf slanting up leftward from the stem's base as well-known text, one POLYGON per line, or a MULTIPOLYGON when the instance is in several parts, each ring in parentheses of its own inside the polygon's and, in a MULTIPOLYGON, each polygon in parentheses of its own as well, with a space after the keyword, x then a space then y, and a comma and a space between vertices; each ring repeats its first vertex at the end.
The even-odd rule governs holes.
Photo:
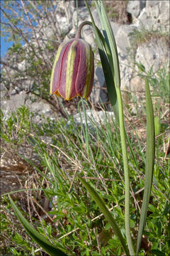
POLYGON ((125 244, 125 240, 123 239, 123 236, 120 232, 120 229, 118 228, 118 225, 115 222, 115 219, 113 218, 113 215, 110 213, 108 208, 106 207, 106 204, 104 203, 103 199, 98 195, 98 193, 92 188, 89 183, 87 183, 84 178, 78 177, 81 183, 84 184, 85 188, 89 193, 91 194, 91 197, 96 201, 96 204, 100 208, 101 212, 105 216, 106 220, 111 224, 111 227, 113 228, 113 231, 115 235, 117 235, 118 239, 121 242, 121 245, 123 246, 123 249, 125 250, 125 254, 129 255, 128 247, 125 244))

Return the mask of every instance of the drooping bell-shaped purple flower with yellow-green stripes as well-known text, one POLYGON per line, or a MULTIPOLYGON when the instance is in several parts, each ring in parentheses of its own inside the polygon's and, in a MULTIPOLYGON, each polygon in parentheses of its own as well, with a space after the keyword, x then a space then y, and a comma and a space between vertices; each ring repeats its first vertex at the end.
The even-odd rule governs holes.
POLYGON ((86 100, 94 82, 94 53, 83 39, 62 43, 52 68, 50 93, 71 100, 79 95, 86 100))

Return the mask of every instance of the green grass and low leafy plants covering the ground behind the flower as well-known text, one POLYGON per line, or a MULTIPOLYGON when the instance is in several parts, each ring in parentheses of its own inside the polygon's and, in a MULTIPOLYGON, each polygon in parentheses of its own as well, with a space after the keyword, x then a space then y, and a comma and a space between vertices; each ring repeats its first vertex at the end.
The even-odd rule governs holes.
MULTIPOLYGON (((162 71, 159 75, 164 85, 167 74, 162 71)), ((152 77, 149 80, 152 80, 152 77)), ((170 206, 169 155, 166 150, 169 140, 169 105, 166 102, 164 86, 158 88, 154 78, 152 82, 152 86, 155 86, 155 90, 161 93, 164 100, 162 105, 159 105, 159 98, 154 97, 155 90, 152 92, 154 113, 155 117, 158 117, 155 125, 160 129, 156 137, 154 182, 141 255, 145 255, 146 252, 148 255, 158 255, 158 253, 168 255, 170 206)), ((133 100, 130 95, 130 102, 133 100)), ((89 108, 84 101, 81 101, 79 112, 86 114, 83 104, 84 108, 89 108)), ((135 152, 134 158, 128 147, 132 198, 130 226, 134 238, 137 235, 135 226, 139 222, 145 180, 145 102, 141 101, 140 105, 142 105, 141 114, 132 116, 127 110, 128 115, 125 118, 129 144, 135 152)), ((67 113, 66 110, 64 111, 67 113)), ((111 226, 77 178, 77 174, 86 178, 103 196, 111 211, 114 209, 115 217, 124 234, 125 184, 121 168, 123 159, 120 153, 120 133, 115 121, 107 115, 104 124, 98 124, 95 119, 91 119, 90 122, 93 129, 86 127, 82 121, 77 125, 67 113, 67 119, 42 118, 42 123, 38 125, 33 123, 33 114, 29 114, 26 107, 21 107, 17 115, 12 114, 8 119, 2 115, 1 134, 4 149, 5 145, 10 144, 11 151, 17 154, 21 146, 25 145, 34 153, 35 159, 38 159, 38 161, 28 159, 24 153, 20 155, 28 164, 32 164, 34 171, 28 171, 26 180, 22 181, 22 189, 25 191, 20 193, 14 191, 13 200, 21 208, 23 215, 29 218, 30 223, 33 223, 38 231, 55 245, 60 246, 64 252, 67 250, 72 252, 72 255, 121 255, 123 251, 120 242, 111 232, 111 226), (51 142, 47 142, 46 137, 51 137, 51 142)), ((5 150, 2 153, 3 159, 5 150)), ((32 244, 23 232, 23 228, 14 218, 11 204, 6 196, 2 196, 1 226, 3 241, 9 238, 1 249, 4 254, 44 255, 44 252, 32 244)))

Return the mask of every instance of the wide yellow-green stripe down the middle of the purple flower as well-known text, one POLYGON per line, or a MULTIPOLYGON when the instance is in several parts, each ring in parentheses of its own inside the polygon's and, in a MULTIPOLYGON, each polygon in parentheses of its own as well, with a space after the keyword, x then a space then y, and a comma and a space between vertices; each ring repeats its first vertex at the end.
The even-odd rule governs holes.
POLYGON ((69 53, 68 53, 66 85, 65 85, 66 100, 70 100, 70 95, 72 92, 72 78, 73 78, 73 70, 74 70, 74 60, 76 56, 76 45, 77 45, 77 40, 73 41, 72 46, 70 46, 69 53))

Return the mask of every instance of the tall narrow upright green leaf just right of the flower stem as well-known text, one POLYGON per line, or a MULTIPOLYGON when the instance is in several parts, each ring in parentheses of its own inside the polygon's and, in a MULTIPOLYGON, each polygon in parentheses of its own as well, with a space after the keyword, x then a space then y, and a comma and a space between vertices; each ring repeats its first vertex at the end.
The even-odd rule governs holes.
POLYGON ((152 97, 149 90, 149 83, 145 79, 146 87, 146 109, 147 109, 147 150, 146 150, 146 166, 145 166, 145 190, 143 195, 142 209, 140 215, 140 225, 137 234, 137 255, 140 252, 140 244, 142 240, 142 232, 145 228, 147 218, 147 207, 152 188, 152 179, 154 173, 154 151, 155 151, 155 132, 154 132, 154 112, 152 106, 152 97))

